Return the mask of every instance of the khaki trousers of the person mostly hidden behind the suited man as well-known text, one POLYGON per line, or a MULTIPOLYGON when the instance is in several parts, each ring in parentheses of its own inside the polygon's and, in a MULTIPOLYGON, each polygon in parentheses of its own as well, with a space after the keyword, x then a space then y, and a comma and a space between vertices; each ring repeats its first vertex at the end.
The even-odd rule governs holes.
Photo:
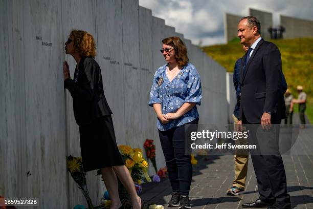
MULTIPOLYGON (((238 119, 233 114, 234 124, 237 124, 238 119)), ((236 144, 248 144, 247 139, 237 139, 236 144)), ((240 189, 244 190, 245 187, 245 179, 247 178, 248 172, 248 158, 249 158, 249 151, 242 151, 240 150, 240 154, 234 155, 234 162, 235 162, 235 179, 233 181, 233 186, 237 186, 240 189)))

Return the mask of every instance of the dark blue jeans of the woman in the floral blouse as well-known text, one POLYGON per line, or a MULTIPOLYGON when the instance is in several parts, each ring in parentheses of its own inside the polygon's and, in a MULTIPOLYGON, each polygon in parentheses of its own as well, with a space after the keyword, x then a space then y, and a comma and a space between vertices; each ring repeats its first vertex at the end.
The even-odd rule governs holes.
MULTIPOLYGON (((187 124, 198 124, 195 119, 187 124)), ((168 177, 173 192, 188 195, 192 179, 190 155, 185 155, 185 125, 166 131, 159 130, 168 177)))

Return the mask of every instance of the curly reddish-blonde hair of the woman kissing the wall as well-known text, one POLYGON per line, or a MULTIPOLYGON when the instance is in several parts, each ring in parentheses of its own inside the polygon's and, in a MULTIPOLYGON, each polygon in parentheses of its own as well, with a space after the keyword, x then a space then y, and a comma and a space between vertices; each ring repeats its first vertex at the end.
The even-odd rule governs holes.
POLYGON ((80 56, 96 56, 96 43, 92 34, 86 31, 72 30, 70 36, 74 37, 74 49, 80 56))

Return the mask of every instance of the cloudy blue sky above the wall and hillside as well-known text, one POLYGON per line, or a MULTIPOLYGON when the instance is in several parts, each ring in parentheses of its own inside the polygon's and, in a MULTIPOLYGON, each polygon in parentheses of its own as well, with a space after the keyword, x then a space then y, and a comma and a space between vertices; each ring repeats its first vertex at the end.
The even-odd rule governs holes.
POLYGON ((280 14, 313 20, 312 0, 139 0, 139 5, 152 10, 152 15, 165 19, 193 44, 225 43, 224 14, 249 15, 249 8, 272 12, 274 25, 280 14))

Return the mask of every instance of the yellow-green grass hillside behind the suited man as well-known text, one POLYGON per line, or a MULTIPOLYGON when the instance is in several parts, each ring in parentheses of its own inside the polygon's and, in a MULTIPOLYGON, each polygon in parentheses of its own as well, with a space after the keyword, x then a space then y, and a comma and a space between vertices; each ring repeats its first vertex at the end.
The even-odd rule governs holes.
MULTIPOLYGON (((297 98, 297 86, 303 86, 308 95, 306 114, 313 123, 313 38, 271 40, 280 50, 282 70, 288 88, 297 98)), ((203 50, 228 72, 234 71, 235 62, 244 52, 239 39, 228 44, 203 47, 203 50)), ((297 107, 295 107, 297 109, 297 107)))

